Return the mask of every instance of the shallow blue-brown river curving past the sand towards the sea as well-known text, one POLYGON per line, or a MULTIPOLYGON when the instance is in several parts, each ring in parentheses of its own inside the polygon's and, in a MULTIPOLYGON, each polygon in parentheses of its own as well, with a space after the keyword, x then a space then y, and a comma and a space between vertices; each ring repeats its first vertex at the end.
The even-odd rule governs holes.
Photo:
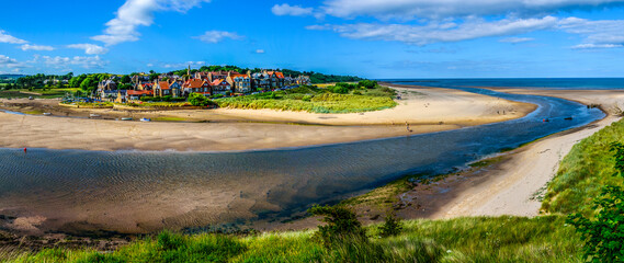
POLYGON ((406 173, 447 172, 604 117, 599 110, 560 99, 462 89, 540 107, 504 123, 298 149, 227 153, 0 149, 0 215, 43 216, 46 220, 35 227, 73 233, 147 232, 274 218, 406 173), (564 119, 569 116, 574 119, 564 119))

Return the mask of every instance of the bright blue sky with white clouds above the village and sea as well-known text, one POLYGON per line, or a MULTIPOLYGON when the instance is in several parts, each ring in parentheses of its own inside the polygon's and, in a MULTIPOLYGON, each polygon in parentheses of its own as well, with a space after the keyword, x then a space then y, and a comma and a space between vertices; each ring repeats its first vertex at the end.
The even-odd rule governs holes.
POLYGON ((4 1, 0 73, 624 77, 624 0, 4 1))

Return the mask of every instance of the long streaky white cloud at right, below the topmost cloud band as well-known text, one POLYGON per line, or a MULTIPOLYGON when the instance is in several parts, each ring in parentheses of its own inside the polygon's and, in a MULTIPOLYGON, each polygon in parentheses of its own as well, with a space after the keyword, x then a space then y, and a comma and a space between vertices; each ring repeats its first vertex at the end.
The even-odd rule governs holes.
POLYGON ((551 28, 557 24, 554 16, 542 19, 503 19, 488 22, 469 19, 462 24, 453 22, 430 22, 424 25, 407 24, 347 24, 317 25, 308 30, 333 30, 343 37, 370 41, 395 41, 412 45, 427 45, 441 42, 460 42, 488 36, 523 34, 536 30, 551 28))

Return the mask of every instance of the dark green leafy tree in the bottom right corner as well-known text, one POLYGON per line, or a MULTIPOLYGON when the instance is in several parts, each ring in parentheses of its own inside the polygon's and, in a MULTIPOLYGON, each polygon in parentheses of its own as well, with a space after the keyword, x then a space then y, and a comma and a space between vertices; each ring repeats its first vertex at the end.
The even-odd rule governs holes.
MULTIPOLYGON (((614 176, 624 176, 624 145, 614 142, 614 176)), ((577 228, 585 240, 583 256, 591 262, 624 261, 624 190, 608 185, 594 201, 598 214, 593 219, 581 214, 568 216, 567 222, 577 228)))

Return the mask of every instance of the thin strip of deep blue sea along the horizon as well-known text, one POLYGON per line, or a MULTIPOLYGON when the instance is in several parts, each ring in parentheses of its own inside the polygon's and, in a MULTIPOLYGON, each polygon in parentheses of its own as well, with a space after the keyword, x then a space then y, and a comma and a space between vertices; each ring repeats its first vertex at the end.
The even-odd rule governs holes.
POLYGON ((497 87, 544 90, 622 90, 624 78, 552 79, 383 79, 397 84, 428 87, 497 87))

